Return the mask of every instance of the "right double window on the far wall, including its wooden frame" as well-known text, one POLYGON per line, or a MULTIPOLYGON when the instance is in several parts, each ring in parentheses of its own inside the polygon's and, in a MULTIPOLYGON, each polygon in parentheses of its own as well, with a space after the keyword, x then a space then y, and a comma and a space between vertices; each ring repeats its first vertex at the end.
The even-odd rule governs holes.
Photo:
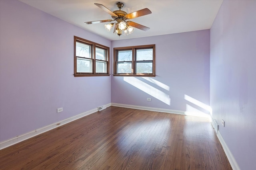
POLYGON ((114 76, 155 76, 155 45, 114 48, 114 76))

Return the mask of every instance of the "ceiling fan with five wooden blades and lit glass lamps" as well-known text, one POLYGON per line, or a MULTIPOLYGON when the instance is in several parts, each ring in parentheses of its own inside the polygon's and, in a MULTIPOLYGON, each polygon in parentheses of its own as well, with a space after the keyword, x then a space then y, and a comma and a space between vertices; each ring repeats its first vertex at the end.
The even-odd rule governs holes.
POLYGON ((116 21, 116 23, 106 24, 105 28, 107 29, 107 31, 110 31, 110 29, 114 26, 113 33, 115 33, 118 36, 122 35, 122 31, 124 31, 124 35, 128 35, 128 34, 132 33, 134 31, 134 27, 141 29, 143 31, 147 31, 150 29, 149 27, 140 25, 133 21, 126 21, 126 20, 130 20, 130 19, 137 18, 140 16, 145 16, 145 15, 151 14, 152 12, 148 8, 144 8, 142 10, 138 10, 138 11, 132 12, 130 14, 127 14, 126 12, 121 10, 121 8, 124 6, 124 4, 121 2, 116 3, 116 6, 119 8, 119 10, 116 10, 113 12, 110 11, 108 8, 106 8, 102 4, 96 4, 96 3, 94 3, 94 4, 96 6, 98 6, 99 8, 101 8, 102 10, 104 10, 105 12, 107 12, 108 14, 110 14, 112 16, 113 20, 89 21, 89 22, 85 22, 86 24, 116 21))

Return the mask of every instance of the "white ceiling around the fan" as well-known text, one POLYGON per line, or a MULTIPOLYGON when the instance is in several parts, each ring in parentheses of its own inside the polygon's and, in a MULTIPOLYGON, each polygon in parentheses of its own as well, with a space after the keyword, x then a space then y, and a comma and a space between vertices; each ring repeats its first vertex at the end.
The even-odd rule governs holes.
MULTIPOLYGON (((119 10, 117 0, 20 0, 52 16, 98 34, 109 40, 129 39, 210 29, 223 0, 120 0, 128 14, 148 8, 152 14, 131 21, 150 27, 148 31, 135 29, 127 36, 107 32, 106 23, 87 25, 86 21, 112 20, 112 17, 94 3, 109 10, 119 10)), ((108 23, 108 22, 107 22, 108 23)), ((113 30, 113 28, 112 28, 113 30)))

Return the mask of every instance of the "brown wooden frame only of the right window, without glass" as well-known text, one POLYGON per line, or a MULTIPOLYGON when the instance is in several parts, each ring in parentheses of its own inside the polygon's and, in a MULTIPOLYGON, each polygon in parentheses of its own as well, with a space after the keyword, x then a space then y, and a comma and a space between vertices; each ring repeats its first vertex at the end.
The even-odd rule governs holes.
MULTIPOLYGON (((114 57, 114 64, 113 64, 113 76, 144 76, 144 77, 155 77, 155 54, 156 54, 156 45, 139 45, 139 46, 130 46, 130 47, 117 47, 113 49, 113 57, 114 57), (152 73, 135 73, 136 70, 136 63, 143 63, 146 61, 136 61, 136 50, 137 49, 153 49, 153 60, 152 60, 152 73), (118 51, 125 51, 125 50, 132 50, 132 73, 117 73, 117 64, 118 64, 118 51)), ((151 61, 151 60, 150 60, 151 61)))

